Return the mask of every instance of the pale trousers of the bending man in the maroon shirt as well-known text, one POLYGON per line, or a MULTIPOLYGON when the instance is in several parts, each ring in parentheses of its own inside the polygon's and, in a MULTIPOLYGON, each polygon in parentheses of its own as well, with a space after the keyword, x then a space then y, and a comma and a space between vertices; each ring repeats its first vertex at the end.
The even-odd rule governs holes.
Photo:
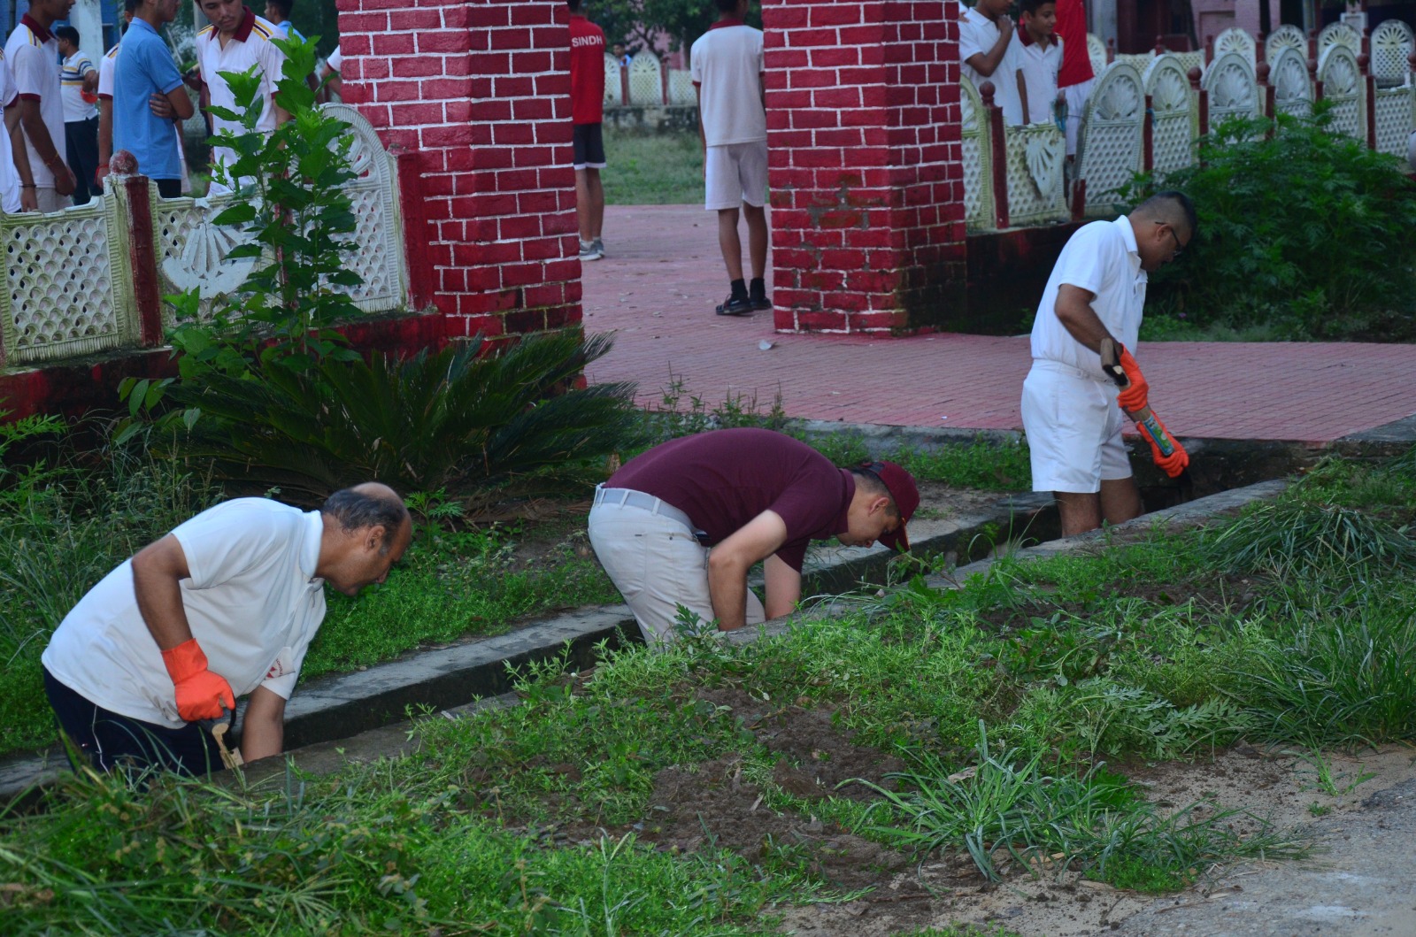
MULTIPOLYGON (((646 508, 606 501, 590 508, 590 546, 634 613, 644 643, 677 637, 678 606, 714 620, 708 594, 708 548, 683 522, 646 508)), ((766 620, 762 600, 748 592, 748 624, 766 620)))

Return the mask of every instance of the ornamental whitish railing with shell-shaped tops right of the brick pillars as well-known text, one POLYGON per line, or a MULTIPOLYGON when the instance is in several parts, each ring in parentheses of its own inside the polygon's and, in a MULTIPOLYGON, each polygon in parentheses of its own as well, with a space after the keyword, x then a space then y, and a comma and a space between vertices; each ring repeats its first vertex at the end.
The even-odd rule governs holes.
POLYGON ((1194 163, 1211 126, 1240 116, 1303 116, 1318 99, 1331 105, 1334 133, 1403 157, 1416 130, 1413 47, 1412 30, 1400 23, 1383 23, 1369 41, 1345 24, 1308 37, 1281 27, 1257 64, 1260 45, 1240 30, 1185 54, 1116 55, 1087 37, 1093 65, 1103 54, 1106 64, 1065 173, 1054 171, 1061 137, 1054 123, 1004 126, 991 82, 974 88, 963 78, 966 224, 987 231, 1113 214, 1137 173, 1164 177, 1194 163))

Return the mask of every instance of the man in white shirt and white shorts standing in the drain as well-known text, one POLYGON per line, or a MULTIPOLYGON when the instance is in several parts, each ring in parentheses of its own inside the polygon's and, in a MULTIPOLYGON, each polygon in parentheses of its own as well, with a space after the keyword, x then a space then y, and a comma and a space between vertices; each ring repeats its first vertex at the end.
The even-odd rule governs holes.
POLYGON ((1130 215, 1079 229, 1052 268, 1032 326, 1022 427, 1032 490, 1054 493, 1063 536, 1141 512, 1121 425, 1123 410, 1147 406, 1148 386, 1129 350, 1141 327, 1147 272, 1180 256, 1197 226, 1188 197, 1158 192, 1130 215), (1120 393, 1102 371, 1106 338, 1123 348, 1131 385, 1120 393))

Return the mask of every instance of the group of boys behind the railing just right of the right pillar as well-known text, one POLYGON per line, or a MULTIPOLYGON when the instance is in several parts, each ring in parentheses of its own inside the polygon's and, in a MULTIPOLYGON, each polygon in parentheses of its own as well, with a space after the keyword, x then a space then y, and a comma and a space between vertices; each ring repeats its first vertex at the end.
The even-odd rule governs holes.
POLYGON ((978 0, 959 16, 959 59, 974 88, 993 82, 994 102, 1010 126, 1055 120, 1076 154, 1082 108, 1095 74, 1086 48, 1082 0, 978 0))

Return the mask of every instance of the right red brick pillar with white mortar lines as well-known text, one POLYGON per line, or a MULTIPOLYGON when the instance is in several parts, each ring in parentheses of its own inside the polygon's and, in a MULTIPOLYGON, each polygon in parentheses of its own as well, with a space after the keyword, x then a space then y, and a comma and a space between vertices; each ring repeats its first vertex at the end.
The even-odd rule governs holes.
POLYGON ((961 296, 954 0, 763 0, 776 327, 918 331, 961 296))

